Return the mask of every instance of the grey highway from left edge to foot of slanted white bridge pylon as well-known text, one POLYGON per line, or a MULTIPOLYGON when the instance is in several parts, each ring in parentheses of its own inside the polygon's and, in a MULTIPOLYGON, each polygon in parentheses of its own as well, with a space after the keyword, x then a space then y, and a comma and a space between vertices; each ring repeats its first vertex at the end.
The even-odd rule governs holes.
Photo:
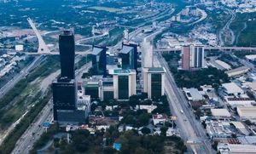
POLYGON ((40 55, 32 61, 29 66, 26 66, 24 69, 20 71, 13 79, 11 79, 8 83, 6 83, 2 88, 0 88, 0 99, 7 94, 11 88, 15 87, 15 84, 18 83, 22 78, 26 77, 29 71, 32 71, 35 67, 37 67, 43 60, 44 56, 40 55))

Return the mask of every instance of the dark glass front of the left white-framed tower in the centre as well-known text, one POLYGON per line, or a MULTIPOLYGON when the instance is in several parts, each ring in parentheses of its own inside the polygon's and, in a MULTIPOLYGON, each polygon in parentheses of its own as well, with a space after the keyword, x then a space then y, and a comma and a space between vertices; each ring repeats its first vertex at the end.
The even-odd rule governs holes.
POLYGON ((119 76, 119 100, 129 99, 129 77, 119 76))

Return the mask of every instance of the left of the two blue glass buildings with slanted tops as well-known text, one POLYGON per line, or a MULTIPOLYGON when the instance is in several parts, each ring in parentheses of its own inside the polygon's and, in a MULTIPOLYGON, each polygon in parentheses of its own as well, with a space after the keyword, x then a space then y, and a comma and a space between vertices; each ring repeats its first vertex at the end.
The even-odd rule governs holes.
POLYGON ((107 48, 100 46, 93 46, 92 49, 92 66, 96 66, 99 74, 103 77, 107 76, 107 48))

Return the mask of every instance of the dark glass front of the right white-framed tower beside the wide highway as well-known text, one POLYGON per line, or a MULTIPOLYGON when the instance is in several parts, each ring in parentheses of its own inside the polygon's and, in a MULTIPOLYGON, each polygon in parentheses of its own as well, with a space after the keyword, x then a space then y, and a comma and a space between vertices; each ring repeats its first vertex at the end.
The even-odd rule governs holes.
POLYGON ((162 89, 161 74, 151 74, 151 96, 152 98, 160 98, 162 89))

